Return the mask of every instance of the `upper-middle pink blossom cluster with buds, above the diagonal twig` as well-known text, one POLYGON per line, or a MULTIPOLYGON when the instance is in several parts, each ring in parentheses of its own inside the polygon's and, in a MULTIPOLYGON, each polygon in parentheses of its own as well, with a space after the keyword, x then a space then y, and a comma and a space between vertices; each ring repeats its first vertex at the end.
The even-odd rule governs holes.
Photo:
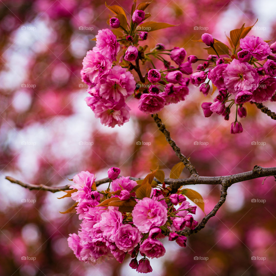
POLYGON ((90 94, 86 103, 95 117, 109 127, 122 126, 129 121, 128 97, 139 100, 141 112, 153 114, 165 105, 185 100, 189 94, 189 78, 183 74, 191 74, 192 68, 190 62, 184 62, 187 54, 184 48, 166 50, 164 44, 158 43, 154 49, 145 52, 147 46, 139 46, 139 41, 148 36, 148 32, 141 31, 145 17, 143 10, 135 10, 126 29, 119 18, 110 18, 112 30, 99 30, 96 46, 83 59, 81 77, 90 94), (164 56, 169 56, 170 60, 164 56), (162 68, 156 69, 152 58, 162 61, 162 68), (145 75, 141 73, 139 60, 142 64, 151 63, 151 67, 145 68, 145 75), (176 65, 170 65, 171 61, 176 65), (133 70, 139 80, 135 80, 133 70))

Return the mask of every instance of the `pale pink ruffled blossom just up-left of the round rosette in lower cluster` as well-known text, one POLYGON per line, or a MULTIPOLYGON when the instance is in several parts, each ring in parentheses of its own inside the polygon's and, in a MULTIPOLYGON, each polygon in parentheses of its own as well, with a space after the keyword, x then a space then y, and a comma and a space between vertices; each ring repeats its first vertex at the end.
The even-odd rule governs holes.
POLYGON ((122 213, 118 211, 118 207, 109 206, 108 212, 101 214, 99 227, 104 237, 111 242, 115 241, 115 234, 122 225, 122 213))

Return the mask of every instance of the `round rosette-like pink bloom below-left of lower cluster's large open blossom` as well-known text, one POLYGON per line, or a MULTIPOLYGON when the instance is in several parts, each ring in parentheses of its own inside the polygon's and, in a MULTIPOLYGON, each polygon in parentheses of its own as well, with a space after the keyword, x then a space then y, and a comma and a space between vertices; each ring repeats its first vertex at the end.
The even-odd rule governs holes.
POLYGON ((132 227, 130 224, 123 224, 120 226, 115 235, 116 246, 124 252, 133 250, 140 240, 140 231, 136 227, 132 227))

